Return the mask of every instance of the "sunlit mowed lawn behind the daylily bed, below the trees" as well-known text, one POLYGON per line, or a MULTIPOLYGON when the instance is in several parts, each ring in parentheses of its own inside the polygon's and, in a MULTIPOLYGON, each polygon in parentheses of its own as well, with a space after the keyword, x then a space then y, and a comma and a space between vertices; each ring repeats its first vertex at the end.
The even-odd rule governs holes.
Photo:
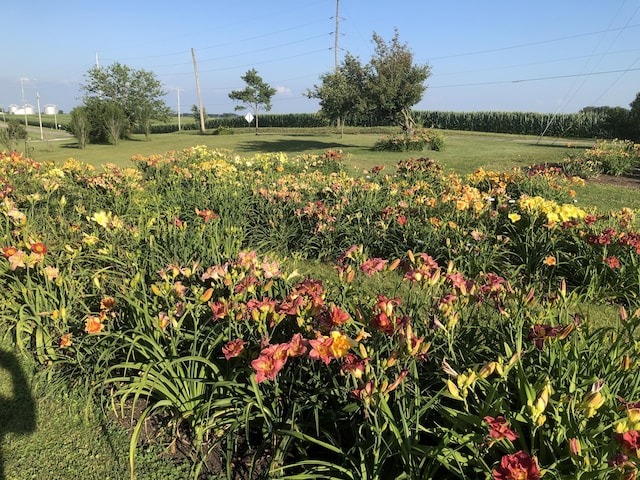
MULTIPOLYGON (((445 149, 440 152, 379 152, 373 149, 375 142, 387 129, 346 129, 343 137, 332 129, 261 129, 256 135, 252 128, 237 130, 234 135, 200 134, 197 131, 182 131, 153 135, 150 142, 143 135, 134 135, 119 145, 88 145, 81 150, 75 139, 66 132, 45 130, 45 141, 39 140, 39 132, 31 131, 36 140, 28 144, 29 154, 37 161, 62 162, 75 158, 100 167, 112 163, 119 167, 131 165, 131 157, 137 154, 164 154, 195 145, 209 148, 226 148, 239 155, 251 157, 256 153, 285 152, 289 156, 302 153, 321 154, 338 149, 345 154, 348 171, 353 175, 366 174, 372 167, 384 165, 393 171, 400 160, 419 156, 437 160, 445 170, 467 175, 478 168, 493 171, 509 171, 512 168, 533 164, 558 163, 568 155, 579 155, 590 148, 594 140, 538 138, 505 134, 445 131, 445 149)), ((619 210, 623 207, 640 209, 640 196, 633 187, 598 185, 588 182, 578 189, 577 202, 587 208, 597 207, 602 211, 619 210)))

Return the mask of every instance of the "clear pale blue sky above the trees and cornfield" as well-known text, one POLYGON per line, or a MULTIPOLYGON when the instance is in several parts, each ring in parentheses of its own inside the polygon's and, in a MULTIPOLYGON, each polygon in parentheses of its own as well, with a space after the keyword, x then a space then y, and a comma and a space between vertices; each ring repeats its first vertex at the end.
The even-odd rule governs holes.
MULTIPOLYGON (((255 68, 278 93, 272 112, 315 112, 303 96, 334 67, 336 0, 57 0, 5 2, 0 107, 81 103, 96 62, 152 71, 169 106, 197 103, 191 49, 208 113, 255 68)), ((372 33, 394 28, 430 65, 415 108, 577 112, 629 107, 640 92, 640 0, 340 0, 339 58, 367 63, 372 33)), ((239 112, 242 113, 242 112, 239 112)))

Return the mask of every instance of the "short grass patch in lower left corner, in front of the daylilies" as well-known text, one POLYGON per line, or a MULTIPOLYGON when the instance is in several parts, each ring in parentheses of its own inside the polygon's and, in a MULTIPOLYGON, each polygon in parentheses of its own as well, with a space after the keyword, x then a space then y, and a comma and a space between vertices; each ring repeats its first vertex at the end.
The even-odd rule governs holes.
MULTIPOLYGON (((129 435, 83 388, 50 385, 33 363, 0 342, 0 478, 122 480, 129 478, 129 435), (4 476, 3 476, 4 474, 4 476)), ((136 460, 138 480, 189 478, 163 460, 160 448, 136 460)))

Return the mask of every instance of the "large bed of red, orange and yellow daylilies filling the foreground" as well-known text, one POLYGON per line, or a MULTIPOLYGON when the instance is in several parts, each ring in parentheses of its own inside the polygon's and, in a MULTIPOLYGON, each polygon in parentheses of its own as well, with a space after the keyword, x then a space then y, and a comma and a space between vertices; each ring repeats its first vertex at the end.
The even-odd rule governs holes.
POLYGON ((635 212, 578 208, 552 169, 352 178, 340 155, 2 156, 3 331, 144 404, 132 465, 157 415, 194 476, 243 444, 267 478, 631 478, 635 212))

